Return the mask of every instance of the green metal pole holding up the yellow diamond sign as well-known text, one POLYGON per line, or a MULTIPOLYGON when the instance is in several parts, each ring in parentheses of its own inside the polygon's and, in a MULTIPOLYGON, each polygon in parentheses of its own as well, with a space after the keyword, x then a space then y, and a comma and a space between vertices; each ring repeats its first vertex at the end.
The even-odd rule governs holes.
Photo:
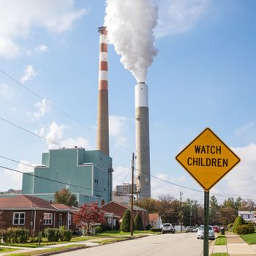
POLYGON ((204 195, 203 256, 209 255, 209 192, 204 195))

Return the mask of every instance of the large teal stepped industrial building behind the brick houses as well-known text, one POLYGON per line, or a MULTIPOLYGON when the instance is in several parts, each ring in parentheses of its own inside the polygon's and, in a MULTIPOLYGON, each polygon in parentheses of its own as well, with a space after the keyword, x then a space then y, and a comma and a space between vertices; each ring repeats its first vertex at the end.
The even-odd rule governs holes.
POLYGON ((112 159, 99 150, 50 149, 42 154, 42 165, 23 173, 23 195, 53 200, 54 193, 67 187, 79 204, 112 200, 112 159))

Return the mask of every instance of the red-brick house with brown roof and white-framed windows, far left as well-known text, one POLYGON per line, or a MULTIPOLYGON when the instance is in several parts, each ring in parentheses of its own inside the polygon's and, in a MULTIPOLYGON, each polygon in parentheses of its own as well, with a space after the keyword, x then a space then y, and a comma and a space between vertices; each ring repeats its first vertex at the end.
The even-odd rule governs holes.
POLYGON ((35 235, 47 227, 75 230, 72 214, 78 208, 51 203, 39 197, 0 197, 0 228, 23 227, 35 235))

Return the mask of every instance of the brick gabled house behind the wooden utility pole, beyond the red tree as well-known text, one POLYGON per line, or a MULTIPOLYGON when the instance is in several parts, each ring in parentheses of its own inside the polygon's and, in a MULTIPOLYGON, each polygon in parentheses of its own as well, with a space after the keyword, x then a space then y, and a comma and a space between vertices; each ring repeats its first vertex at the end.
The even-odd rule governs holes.
MULTIPOLYGON (((111 201, 101 206, 101 209, 122 218, 124 216, 124 211, 130 209, 130 206, 128 204, 111 201)), ((148 225, 148 211, 139 206, 133 206, 133 216, 135 217, 138 213, 140 214, 144 227, 146 227, 146 225, 148 225)), ((121 219, 119 219, 119 221, 120 220, 121 219)))

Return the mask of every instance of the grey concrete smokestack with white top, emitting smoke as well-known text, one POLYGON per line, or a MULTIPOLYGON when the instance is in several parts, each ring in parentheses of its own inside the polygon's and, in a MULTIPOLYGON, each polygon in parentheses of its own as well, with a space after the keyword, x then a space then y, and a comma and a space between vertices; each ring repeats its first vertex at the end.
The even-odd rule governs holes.
POLYGON ((135 86, 136 128, 136 183, 140 199, 151 197, 150 150, 148 124, 148 86, 139 82, 135 86))

